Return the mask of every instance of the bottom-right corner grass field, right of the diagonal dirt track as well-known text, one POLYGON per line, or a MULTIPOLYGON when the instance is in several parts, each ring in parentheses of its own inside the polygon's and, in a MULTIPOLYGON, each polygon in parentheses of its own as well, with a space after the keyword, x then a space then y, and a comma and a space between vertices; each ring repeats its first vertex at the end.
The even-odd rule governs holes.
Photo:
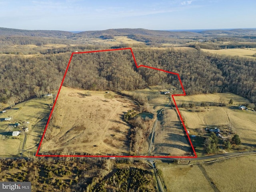
POLYGON ((256 156, 230 158, 203 164, 206 172, 220 191, 255 192, 256 156))

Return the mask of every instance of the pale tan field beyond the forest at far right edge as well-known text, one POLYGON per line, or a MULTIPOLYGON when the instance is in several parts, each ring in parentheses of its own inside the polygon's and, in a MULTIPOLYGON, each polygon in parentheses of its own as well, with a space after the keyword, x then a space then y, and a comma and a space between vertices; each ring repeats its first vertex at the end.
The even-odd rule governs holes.
POLYGON ((219 55, 228 55, 228 56, 240 56, 247 58, 254 58, 253 54, 256 53, 255 48, 246 48, 246 49, 220 49, 220 50, 210 50, 210 49, 201 49, 205 52, 216 53, 219 55))

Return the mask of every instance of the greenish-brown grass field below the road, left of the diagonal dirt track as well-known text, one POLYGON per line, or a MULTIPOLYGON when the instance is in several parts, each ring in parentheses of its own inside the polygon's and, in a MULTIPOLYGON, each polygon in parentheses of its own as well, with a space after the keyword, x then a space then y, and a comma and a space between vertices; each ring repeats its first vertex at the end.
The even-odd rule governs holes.
POLYGON ((168 192, 213 192, 208 180, 198 166, 156 164, 162 170, 162 177, 168 192))

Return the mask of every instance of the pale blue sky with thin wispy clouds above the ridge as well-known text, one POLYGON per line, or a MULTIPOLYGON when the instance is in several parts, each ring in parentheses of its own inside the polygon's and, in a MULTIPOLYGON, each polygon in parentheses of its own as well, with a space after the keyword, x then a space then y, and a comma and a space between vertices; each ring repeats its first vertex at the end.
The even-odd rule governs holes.
POLYGON ((256 28, 256 0, 0 0, 0 27, 86 31, 256 28))

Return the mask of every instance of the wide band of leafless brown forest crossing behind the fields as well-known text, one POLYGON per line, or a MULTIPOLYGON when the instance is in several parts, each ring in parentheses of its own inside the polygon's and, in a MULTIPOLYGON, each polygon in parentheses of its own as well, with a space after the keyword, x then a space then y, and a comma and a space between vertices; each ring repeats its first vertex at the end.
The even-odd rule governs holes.
MULTIPOLYGON (((139 65, 180 74, 187 94, 232 92, 256 102, 256 61, 209 55, 197 50, 135 49, 139 65)), ((71 53, 39 57, 1 56, 0 102, 21 102, 56 90, 71 53)), ((171 83, 177 76, 136 68, 129 51, 75 54, 64 84, 88 90, 134 90, 171 83)))

